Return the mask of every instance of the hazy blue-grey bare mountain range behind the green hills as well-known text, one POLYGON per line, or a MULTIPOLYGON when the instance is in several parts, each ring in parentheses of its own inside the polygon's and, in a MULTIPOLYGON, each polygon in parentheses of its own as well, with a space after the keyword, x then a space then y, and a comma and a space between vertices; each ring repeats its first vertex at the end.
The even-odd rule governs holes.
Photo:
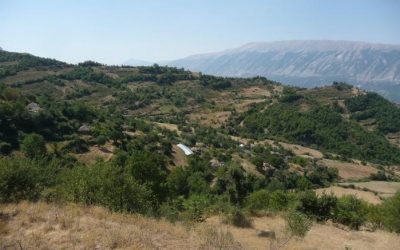
POLYGON ((328 40, 260 42, 165 64, 219 76, 259 75, 303 87, 345 81, 400 102, 400 45, 328 40))

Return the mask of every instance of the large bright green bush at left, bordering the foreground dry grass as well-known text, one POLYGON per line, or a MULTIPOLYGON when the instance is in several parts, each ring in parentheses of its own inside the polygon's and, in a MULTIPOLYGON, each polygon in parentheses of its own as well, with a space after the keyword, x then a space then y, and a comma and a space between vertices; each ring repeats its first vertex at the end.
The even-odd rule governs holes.
POLYGON ((146 186, 107 163, 66 171, 58 189, 64 200, 101 205, 114 211, 151 214, 156 207, 154 195, 146 186))

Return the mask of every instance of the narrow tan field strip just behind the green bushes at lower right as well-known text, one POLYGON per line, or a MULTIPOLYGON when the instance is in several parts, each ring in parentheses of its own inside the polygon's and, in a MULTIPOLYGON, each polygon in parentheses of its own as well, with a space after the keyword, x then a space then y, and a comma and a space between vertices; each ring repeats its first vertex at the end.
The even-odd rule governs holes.
POLYGON ((379 198, 378 195, 376 195, 372 192, 369 192, 369 191, 344 188, 344 187, 338 187, 338 186, 332 186, 332 187, 328 187, 328 188, 320 188, 320 189, 316 190, 317 194, 322 194, 323 192, 325 192, 327 194, 332 193, 337 197, 342 197, 344 195, 355 195, 359 199, 362 199, 362 200, 372 203, 372 204, 379 204, 382 202, 382 200, 379 198))

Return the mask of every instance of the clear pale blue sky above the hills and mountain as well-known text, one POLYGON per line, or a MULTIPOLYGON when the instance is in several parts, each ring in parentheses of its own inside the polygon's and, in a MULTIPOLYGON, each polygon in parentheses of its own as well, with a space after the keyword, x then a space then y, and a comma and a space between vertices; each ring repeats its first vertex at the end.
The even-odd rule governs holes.
POLYGON ((156 62, 311 39, 400 44, 400 1, 0 0, 0 47, 69 63, 156 62))

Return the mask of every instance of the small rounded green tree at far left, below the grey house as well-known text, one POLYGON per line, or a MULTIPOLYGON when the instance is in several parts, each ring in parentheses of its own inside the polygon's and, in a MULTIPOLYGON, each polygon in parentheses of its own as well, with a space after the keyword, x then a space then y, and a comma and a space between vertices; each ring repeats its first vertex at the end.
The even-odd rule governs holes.
POLYGON ((21 150, 32 159, 45 156, 46 145, 43 136, 35 133, 26 135, 21 143, 21 150))

